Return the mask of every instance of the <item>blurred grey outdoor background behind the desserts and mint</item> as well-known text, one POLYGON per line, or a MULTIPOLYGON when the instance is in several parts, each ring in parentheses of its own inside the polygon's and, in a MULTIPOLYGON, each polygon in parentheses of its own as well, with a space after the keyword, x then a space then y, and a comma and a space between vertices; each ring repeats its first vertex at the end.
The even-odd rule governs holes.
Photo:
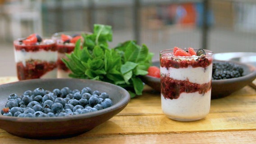
POLYGON ((153 60, 174 46, 256 52, 256 0, 0 0, 0 76, 16 76, 14 39, 94 23, 112 26, 110 47, 137 40, 153 60))

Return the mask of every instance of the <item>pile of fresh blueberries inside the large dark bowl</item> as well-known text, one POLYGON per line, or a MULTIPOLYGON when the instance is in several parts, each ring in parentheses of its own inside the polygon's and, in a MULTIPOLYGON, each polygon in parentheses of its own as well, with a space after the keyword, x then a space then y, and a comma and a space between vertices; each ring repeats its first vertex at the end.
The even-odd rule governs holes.
POLYGON ((14 117, 60 117, 94 112, 112 105, 107 93, 92 91, 89 87, 81 91, 64 87, 52 92, 37 88, 27 90, 20 96, 10 94, 1 114, 14 117))

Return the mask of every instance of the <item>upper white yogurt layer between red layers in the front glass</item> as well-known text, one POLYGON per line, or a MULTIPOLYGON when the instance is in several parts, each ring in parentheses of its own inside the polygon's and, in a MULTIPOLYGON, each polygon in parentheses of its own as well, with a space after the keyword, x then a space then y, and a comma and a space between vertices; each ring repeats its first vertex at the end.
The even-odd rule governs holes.
POLYGON ((161 74, 169 75, 174 80, 185 81, 189 80, 192 83, 204 84, 211 81, 212 75, 212 63, 204 67, 186 67, 186 68, 174 68, 160 67, 161 74))

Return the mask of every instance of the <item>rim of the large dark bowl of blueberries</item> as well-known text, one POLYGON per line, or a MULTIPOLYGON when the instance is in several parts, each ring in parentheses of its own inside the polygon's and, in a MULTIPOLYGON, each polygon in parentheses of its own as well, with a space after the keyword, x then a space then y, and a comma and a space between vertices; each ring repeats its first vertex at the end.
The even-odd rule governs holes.
POLYGON ((17 83, 29 83, 29 82, 33 82, 33 81, 91 81, 91 82, 96 82, 96 83, 101 83, 104 85, 112 85, 115 86, 116 88, 119 88, 121 91, 124 92, 124 97, 117 103, 113 104, 111 107, 109 108, 104 108, 102 110, 99 111, 95 111, 95 112, 88 112, 88 113, 83 113, 83 114, 78 114, 78 115, 73 115, 73 116, 67 116, 67 117, 8 117, 8 116, 3 116, 0 115, 0 120, 5 120, 5 121, 20 121, 20 122, 54 122, 54 121, 69 121, 69 120, 77 120, 77 119, 85 119, 85 118, 90 118, 90 117, 96 117, 108 112, 112 112, 118 108, 121 108, 125 105, 127 105, 130 101, 130 94, 128 93, 127 90, 125 90, 124 88, 118 86, 118 85, 114 85, 108 82, 104 82, 104 81, 96 81, 96 80, 89 80, 89 79, 78 79, 78 78, 46 78, 46 79, 31 79, 31 80, 23 80, 23 81, 15 81, 15 82, 10 82, 7 84, 2 84, 0 85, 0 87, 2 86, 8 86, 8 85, 13 85, 13 84, 17 84, 17 83))

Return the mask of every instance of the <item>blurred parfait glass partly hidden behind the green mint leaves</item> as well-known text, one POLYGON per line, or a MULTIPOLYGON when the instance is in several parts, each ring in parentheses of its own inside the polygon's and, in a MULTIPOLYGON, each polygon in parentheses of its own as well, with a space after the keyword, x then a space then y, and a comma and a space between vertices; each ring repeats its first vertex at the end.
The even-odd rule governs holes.
POLYGON ((56 41, 58 50, 58 60, 57 60, 57 77, 58 78, 69 78, 71 71, 66 67, 65 63, 61 60, 62 58, 67 58, 66 53, 70 54, 75 48, 75 43, 78 39, 81 39, 81 46, 83 43, 83 38, 81 34, 91 34, 87 31, 61 31, 56 32, 52 35, 52 39, 56 41))

